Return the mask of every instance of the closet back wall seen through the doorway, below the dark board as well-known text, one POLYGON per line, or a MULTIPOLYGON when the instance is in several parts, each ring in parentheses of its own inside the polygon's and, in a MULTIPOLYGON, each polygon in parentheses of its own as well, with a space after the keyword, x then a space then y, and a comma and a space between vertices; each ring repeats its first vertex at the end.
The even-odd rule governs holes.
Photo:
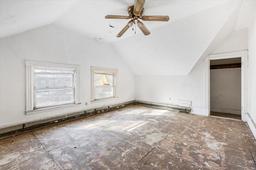
POLYGON ((241 115, 241 68, 210 70, 210 111, 241 115))

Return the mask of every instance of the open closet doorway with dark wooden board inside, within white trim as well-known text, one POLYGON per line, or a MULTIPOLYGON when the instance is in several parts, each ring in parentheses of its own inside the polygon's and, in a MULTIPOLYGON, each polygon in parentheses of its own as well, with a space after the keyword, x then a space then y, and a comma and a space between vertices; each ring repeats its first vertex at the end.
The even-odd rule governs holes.
POLYGON ((210 61, 210 115, 241 120, 241 57, 210 61))

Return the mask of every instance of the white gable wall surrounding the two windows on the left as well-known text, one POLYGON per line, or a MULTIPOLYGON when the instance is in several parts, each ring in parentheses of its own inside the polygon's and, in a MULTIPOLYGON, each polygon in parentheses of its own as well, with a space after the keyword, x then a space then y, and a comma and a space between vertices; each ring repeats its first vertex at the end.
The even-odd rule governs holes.
POLYGON ((135 77, 111 45, 46 25, 0 40, 0 127, 135 99, 135 77), (25 61, 80 65, 80 105, 25 115, 25 61), (91 104, 91 66, 118 69, 117 100, 91 104), (86 106, 85 103, 88 102, 86 106))

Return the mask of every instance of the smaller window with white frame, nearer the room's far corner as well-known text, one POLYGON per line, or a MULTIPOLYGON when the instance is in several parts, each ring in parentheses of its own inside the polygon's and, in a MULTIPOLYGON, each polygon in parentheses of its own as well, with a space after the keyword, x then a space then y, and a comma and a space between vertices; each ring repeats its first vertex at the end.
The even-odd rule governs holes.
POLYGON ((118 98, 117 69, 92 67, 92 102, 118 98))

